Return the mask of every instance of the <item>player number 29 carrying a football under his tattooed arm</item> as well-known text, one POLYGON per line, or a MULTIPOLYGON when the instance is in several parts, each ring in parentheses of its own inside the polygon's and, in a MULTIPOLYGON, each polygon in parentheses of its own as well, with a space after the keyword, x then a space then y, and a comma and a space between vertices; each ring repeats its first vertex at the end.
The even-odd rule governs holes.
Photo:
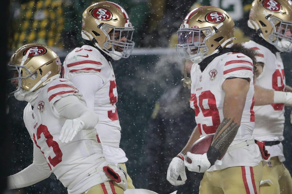
POLYGON ((189 12, 178 30, 177 53, 194 63, 190 105, 197 127, 169 164, 167 180, 173 185, 184 184, 185 166, 189 171, 205 172, 200 194, 259 193, 262 156, 252 137, 255 58, 248 49, 238 52, 235 47, 227 48, 234 39, 232 18, 213 6, 189 12), (200 135, 207 134, 214 134, 207 153, 187 152, 200 135), (179 175, 182 180, 177 180, 179 175))

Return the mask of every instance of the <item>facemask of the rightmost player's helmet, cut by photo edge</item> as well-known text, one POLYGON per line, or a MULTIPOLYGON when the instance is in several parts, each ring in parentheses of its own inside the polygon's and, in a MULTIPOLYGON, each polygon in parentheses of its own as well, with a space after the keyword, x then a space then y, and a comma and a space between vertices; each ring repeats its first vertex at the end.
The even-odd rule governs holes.
POLYGON ((274 45, 281 52, 291 52, 292 22, 286 22, 274 16, 268 20, 273 27, 273 32, 269 35, 267 41, 274 45))

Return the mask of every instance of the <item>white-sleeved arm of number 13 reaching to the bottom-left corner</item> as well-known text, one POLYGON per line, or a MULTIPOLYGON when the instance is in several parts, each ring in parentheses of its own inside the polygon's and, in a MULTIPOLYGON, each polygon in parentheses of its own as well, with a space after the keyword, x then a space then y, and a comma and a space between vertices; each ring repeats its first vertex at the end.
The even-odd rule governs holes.
POLYGON ((22 171, 8 177, 8 189, 17 189, 33 185, 47 179, 51 170, 39 148, 33 144, 33 163, 22 171))

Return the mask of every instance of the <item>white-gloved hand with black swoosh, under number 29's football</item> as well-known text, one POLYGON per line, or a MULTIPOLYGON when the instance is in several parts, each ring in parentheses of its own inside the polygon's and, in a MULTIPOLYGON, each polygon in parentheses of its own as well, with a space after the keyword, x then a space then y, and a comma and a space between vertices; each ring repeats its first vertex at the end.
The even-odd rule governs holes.
POLYGON ((205 172, 208 168, 210 168, 211 164, 207 158, 207 153, 205 154, 192 154, 191 152, 187 152, 185 157, 185 166, 189 171, 193 172, 205 172), (192 160, 192 163, 187 161, 187 158, 192 160))

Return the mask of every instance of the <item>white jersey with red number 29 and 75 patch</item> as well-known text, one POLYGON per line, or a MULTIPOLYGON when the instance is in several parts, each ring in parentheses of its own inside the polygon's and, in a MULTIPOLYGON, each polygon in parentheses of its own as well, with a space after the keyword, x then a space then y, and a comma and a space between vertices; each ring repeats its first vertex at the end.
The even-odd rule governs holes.
MULTIPOLYGON (((254 129, 254 86, 252 60, 242 53, 224 53, 214 58, 201 72, 198 64, 191 70, 190 106, 195 110, 200 134, 214 134, 223 117, 225 92, 222 84, 229 77, 249 78, 249 91, 238 132, 231 145, 252 139, 254 129)), ((234 107, 236 108, 236 107, 234 107)), ((222 165, 213 165, 207 171, 221 170, 232 166, 256 166, 262 161, 256 144, 227 152, 221 159, 222 165), (244 157, 242 157, 244 156, 244 157)))

